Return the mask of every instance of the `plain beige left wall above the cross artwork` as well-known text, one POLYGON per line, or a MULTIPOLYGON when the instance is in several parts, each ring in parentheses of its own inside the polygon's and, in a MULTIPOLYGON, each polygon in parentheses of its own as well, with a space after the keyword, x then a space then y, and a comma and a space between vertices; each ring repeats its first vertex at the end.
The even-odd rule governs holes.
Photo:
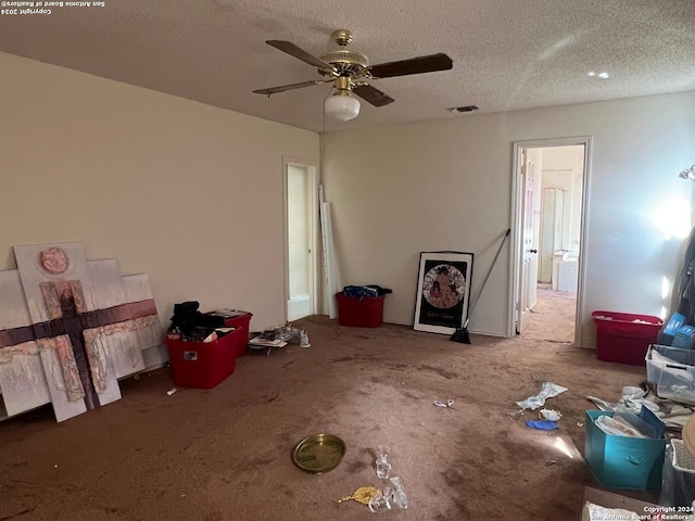
POLYGON ((283 323, 282 156, 319 137, 0 53, 0 269, 12 246, 81 241, 175 303, 283 323))

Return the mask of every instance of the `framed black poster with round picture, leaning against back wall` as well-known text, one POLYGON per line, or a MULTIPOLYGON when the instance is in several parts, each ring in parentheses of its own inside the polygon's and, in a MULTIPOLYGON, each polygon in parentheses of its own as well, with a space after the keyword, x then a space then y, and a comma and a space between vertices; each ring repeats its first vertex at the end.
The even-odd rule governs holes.
POLYGON ((473 254, 422 252, 413 329, 453 334, 468 318, 473 254))

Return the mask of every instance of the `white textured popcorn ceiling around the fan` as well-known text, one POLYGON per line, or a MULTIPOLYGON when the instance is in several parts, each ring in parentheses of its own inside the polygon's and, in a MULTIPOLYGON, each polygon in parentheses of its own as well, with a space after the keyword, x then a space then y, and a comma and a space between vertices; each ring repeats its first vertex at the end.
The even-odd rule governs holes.
MULTIPOLYGON (((7 3, 7 2, 3 2, 7 3)), ((67 3, 67 2, 65 2, 67 3)), ((0 51, 265 119, 333 131, 695 90, 695 0, 105 0, 0 16, 0 51), (374 80, 395 99, 324 120, 330 85, 265 40, 319 55, 330 34, 372 64, 443 52, 451 71, 374 80), (607 72, 608 79, 589 72, 607 72)), ((5 7, 4 9, 12 9, 5 7)), ((23 8, 18 8, 23 9, 23 8)), ((47 86, 50 92, 50 86, 47 86)))

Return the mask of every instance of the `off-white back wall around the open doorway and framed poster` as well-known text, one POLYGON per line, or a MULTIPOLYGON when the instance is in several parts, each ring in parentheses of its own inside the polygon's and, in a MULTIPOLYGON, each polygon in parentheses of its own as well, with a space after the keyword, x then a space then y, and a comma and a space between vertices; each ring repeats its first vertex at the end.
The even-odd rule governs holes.
MULTIPOLYGON (((475 294, 510 225, 513 142, 592 136, 583 343, 594 309, 659 315, 683 239, 657 223, 673 201, 691 202, 692 183, 677 176, 695 158, 694 114, 685 92, 330 134, 324 183, 342 278, 392 288, 384 320, 412 323, 419 253, 456 250, 476 254, 475 294)), ((508 255, 471 331, 506 333, 508 255)))

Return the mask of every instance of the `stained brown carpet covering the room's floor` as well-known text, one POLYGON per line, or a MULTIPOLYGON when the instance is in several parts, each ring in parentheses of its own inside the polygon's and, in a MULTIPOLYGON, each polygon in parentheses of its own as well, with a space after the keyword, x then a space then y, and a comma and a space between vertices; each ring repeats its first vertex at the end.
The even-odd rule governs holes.
POLYGON ((333 499, 383 485, 378 444, 391 447, 410 503, 388 519, 576 520, 594 484, 581 456, 585 396, 617 399, 645 378, 557 341, 471 335, 467 345, 326 317, 295 326, 311 347, 249 354, 212 390, 168 396, 161 369, 66 422, 41 409, 0 423, 0 520, 367 519, 381 514, 333 499), (533 414, 514 415, 544 381, 569 389, 548 401, 564 415, 554 432, 527 428, 533 414), (290 458, 316 432, 348 444, 323 475, 290 458))

